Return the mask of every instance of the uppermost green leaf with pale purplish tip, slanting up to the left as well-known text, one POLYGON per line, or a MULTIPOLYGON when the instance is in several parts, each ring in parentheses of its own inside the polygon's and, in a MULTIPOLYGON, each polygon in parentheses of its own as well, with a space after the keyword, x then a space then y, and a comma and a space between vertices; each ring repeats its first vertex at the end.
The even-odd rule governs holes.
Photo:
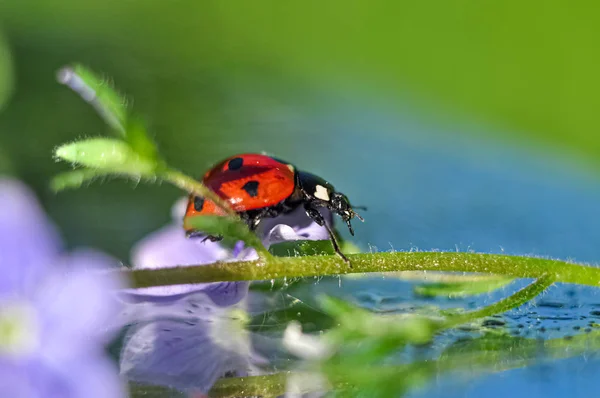
POLYGON ((91 104, 110 127, 126 135, 127 101, 107 79, 96 76, 79 64, 65 66, 58 71, 57 78, 91 104))

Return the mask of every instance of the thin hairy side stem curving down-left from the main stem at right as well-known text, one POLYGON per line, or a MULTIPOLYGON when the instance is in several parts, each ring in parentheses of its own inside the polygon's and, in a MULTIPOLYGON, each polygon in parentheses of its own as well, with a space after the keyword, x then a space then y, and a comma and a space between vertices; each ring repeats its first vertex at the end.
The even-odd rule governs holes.
POLYGON ((535 297, 540 295, 544 290, 549 288, 555 280, 548 275, 544 275, 536 279, 533 283, 519 290, 512 296, 506 297, 497 303, 488 305, 479 310, 467 312, 465 314, 459 314, 449 317, 446 321, 442 322, 441 329, 452 328, 464 323, 473 322, 480 318, 492 316, 495 314, 501 314, 506 311, 512 310, 513 308, 520 307, 521 305, 528 303, 535 297))

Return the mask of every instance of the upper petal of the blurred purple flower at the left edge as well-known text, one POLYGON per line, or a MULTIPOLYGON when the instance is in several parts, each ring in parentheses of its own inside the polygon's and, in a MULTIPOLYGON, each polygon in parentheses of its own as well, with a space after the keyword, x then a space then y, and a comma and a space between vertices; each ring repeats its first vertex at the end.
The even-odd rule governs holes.
POLYGON ((54 226, 29 188, 0 179, 0 298, 29 292, 60 248, 54 226))

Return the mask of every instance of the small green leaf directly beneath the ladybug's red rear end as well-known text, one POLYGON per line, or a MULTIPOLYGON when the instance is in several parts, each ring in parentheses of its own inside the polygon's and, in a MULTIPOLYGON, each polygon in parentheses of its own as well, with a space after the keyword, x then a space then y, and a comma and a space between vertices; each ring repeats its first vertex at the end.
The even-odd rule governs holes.
POLYGON ((186 229, 195 229, 213 236, 224 236, 243 241, 262 255, 270 256, 262 242, 248 226, 239 219, 224 216, 193 216, 185 220, 186 229))

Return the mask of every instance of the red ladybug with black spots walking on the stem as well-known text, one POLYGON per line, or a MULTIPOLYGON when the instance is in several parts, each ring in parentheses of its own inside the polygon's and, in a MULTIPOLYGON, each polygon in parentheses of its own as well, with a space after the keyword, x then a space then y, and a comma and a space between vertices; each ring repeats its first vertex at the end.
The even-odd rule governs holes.
MULTIPOLYGON (((287 214, 302 206, 314 222, 327 229, 335 252, 348 262, 319 208, 339 215, 352 235, 351 220, 356 217, 363 221, 363 218, 354 211, 346 195, 337 192, 323 178, 298 170, 286 161, 249 153, 221 161, 206 172, 202 182, 226 200, 252 231, 263 218, 287 214)), ((188 217, 197 215, 225 215, 225 212, 209 199, 190 195, 184 218, 188 237, 201 235, 185 222, 188 217)), ((222 237, 205 239, 217 241, 222 237)))

